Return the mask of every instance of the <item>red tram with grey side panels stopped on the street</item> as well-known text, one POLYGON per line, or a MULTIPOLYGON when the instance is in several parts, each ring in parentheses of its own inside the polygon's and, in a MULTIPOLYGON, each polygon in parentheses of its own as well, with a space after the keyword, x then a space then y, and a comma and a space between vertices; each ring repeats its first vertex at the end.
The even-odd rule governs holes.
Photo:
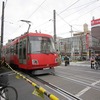
POLYGON ((35 74, 52 72, 59 65, 53 38, 43 33, 25 33, 2 48, 2 57, 11 65, 17 65, 35 74))

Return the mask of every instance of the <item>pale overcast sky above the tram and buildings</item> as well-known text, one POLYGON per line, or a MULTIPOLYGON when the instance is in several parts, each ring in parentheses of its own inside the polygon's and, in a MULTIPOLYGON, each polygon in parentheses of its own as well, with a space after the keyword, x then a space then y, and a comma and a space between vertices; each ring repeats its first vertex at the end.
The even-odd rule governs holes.
MULTIPOLYGON (((0 0, 0 16, 2 1, 0 0)), ((32 22, 31 32, 37 30, 53 35, 53 10, 56 10, 56 34, 60 37, 71 36, 70 25, 73 31, 83 31, 85 23, 91 29, 93 16, 95 19, 100 18, 100 0, 4 0, 4 2, 4 43, 27 31, 28 24, 20 20, 32 22)))

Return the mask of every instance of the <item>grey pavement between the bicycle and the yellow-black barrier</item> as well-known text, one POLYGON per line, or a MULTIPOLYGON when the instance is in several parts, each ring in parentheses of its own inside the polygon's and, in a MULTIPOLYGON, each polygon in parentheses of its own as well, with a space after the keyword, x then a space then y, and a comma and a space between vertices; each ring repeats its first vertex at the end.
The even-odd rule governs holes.
MULTIPOLYGON (((17 90, 18 100, 44 100, 44 99, 41 99, 39 96, 32 94, 35 90, 34 86, 29 84, 27 81, 25 81, 22 78, 17 79, 16 74, 10 71, 9 69, 0 68, 0 76, 2 75, 7 75, 9 85, 13 86, 17 90)), ((45 100, 50 100, 48 97, 45 97, 45 98, 46 98, 45 100)), ((5 100, 5 99, 2 99, 2 100, 5 100)))

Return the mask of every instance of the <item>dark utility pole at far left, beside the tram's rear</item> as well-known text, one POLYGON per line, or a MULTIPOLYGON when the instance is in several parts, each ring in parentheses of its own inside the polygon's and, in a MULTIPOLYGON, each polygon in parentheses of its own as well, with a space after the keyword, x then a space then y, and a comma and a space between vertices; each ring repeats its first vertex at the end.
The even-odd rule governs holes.
POLYGON ((1 43, 0 43, 0 59, 1 59, 1 48, 3 46, 3 34, 4 34, 4 1, 2 2, 2 16, 1 16, 1 43))

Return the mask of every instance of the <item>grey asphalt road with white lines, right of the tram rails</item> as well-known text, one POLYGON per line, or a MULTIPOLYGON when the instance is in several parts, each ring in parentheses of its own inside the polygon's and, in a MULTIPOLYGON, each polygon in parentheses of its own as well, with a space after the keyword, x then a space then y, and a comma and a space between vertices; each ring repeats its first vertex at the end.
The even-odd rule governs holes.
MULTIPOLYGON (((40 78, 82 100, 100 100, 100 70, 91 69, 90 62, 72 62, 68 66, 62 63, 55 68, 55 73, 57 76, 46 75, 40 78)), ((55 94, 60 100, 68 99, 64 94, 55 94)))

